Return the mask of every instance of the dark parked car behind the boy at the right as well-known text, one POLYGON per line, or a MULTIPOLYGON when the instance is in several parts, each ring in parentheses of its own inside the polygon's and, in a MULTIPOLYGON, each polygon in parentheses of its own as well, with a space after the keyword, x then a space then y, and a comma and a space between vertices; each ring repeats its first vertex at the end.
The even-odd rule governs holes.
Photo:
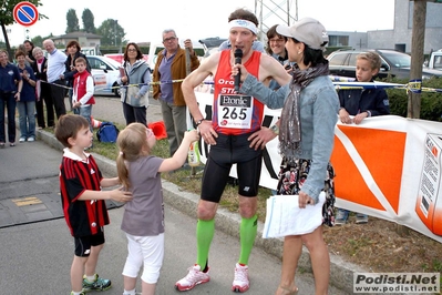
MULTIPOLYGON (((382 64, 378 78, 383 79, 391 75, 398 79, 410 79, 411 57, 409 54, 387 49, 369 51, 374 51, 381 57, 382 64)), ((331 52, 327 57, 330 74, 356 78, 356 57, 361 52, 364 51, 338 50, 331 52)), ((422 79, 430 79, 431 77, 442 77, 442 72, 423 68, 422 79)))

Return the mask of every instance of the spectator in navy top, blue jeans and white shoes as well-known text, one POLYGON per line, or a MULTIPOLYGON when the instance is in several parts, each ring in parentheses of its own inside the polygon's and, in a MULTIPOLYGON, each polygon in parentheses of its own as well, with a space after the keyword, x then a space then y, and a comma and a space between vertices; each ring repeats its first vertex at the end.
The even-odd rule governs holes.
POLYGON ((20 100, 17 102, 20 124, 19 142, 32 142, 35 141, 35 75, 31 67, 25 65, 27 54, 24 52, 16 52, 16 60, 23 80, 20 100))

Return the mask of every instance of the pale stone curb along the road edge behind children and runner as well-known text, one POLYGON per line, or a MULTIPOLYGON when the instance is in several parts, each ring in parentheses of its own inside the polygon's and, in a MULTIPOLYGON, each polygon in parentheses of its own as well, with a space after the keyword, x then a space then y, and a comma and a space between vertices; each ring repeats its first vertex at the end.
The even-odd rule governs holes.
MULTIPOLYGON (((37 138, 55 150, 62 150, 63 145, 53 136, 52 133, 38 130, 37 138)), ((103 174, 116 176, 116 164, 96 153, 93 154, 96 164, 103 174)), ((164 202, 184 214, 196 218, 196 208, 199 195, 183 191, 179 186, 163 180, 163 197, 164 202)), ((240 216, 232 213, 223 207, 218 207, 215 216, 216 228, 239 238, 240 216)), ((282 258, 282 238, 263 238, 264 224, 258 222, 258 232, 255 238, 255 246, 260 247, 265 252, 275 255, 279 260, 282 258)), ((312 273, 309 252, 302 246, 302 253, 298 262, 298 268, 304 272, 312 273)), ((346 294, 353 293, 353 273, 369 273, 362 267, 342 261, 339 256, 330 253, 330 284, 343 291, 346 294)))

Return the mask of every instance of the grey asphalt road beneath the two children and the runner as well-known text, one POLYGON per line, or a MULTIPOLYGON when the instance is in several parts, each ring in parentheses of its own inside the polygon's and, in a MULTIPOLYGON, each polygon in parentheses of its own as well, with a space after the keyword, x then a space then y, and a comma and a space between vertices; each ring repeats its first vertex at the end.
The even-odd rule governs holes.
MULTIPOLYGON (((115 106, 120 105, 116 99, 99 98, 97 101, 93 113, 104 101, 113 105, 107 108, 121 112, 115 106)), ((104 106, 101 110, 104 111, 104 106)), ((148 112, 157 110, 151 106, 148 112)), ((60 149, 52 149, 41 140, 0 150, 0 294, 59 295, 71 291, 73 240, 61 217, 58 182, 61 156, 60 149)), ((105 227, 106 245, 97 273, 113 282, 113 288, 103 294, 122 294, 126 240, 120 224, 124 208, 112 204, 111 207, 111 225, 105 227)), ((178 293, 174 289, 175 282, 195 263, 196 220, 178 208, 165 204, 165 258, 156 294, 178 293)), ((232 294, 239 241, 219 227, 209 255, 212 281, 188 294, 232 294)), ((255 247, 249 267, 251 287, 247 294, 274 294, 279 282, 280 260, 255 247)), ((299 294, 313 294, 311 273, 300 271, 297 274, 299 294)), ((346 293, 330 286, 329 294, 346 293)))

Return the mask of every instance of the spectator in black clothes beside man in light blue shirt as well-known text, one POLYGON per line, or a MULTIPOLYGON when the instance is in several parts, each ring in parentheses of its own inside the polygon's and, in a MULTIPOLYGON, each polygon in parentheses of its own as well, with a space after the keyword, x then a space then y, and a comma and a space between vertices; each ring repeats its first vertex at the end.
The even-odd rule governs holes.
POLYGON ((43 54, 43 50, 39 47, 35 47, 32 50, 32 54, 35 58, 35 62, 32 64, 32 70, 37 78, 37 87, 35 87, 35 110, 37 110, 37 124, 39 129, 45 129, 47 124, 44 121, 44 104, 47 105, 47 119, 48 126, 54 128, 54 112, 53 112, 53 102, 51 94, 51 87, 48 84, 48 59, 43 54))

